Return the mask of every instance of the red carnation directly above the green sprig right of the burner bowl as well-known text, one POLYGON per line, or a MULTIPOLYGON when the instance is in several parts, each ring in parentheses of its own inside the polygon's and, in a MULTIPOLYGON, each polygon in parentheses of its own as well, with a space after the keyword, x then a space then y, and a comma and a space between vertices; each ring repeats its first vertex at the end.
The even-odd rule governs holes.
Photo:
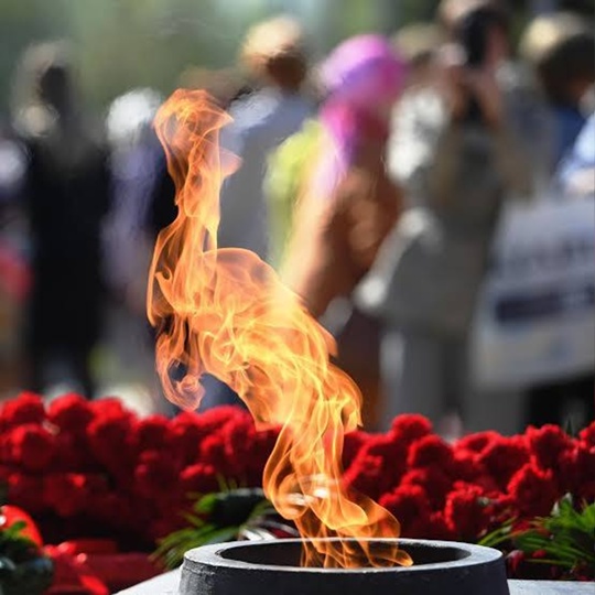
POLYGON ((519 511, 533 517, 549 515, 560 497, 552 472, 529 463, 512 476, 508 491, 519 511))

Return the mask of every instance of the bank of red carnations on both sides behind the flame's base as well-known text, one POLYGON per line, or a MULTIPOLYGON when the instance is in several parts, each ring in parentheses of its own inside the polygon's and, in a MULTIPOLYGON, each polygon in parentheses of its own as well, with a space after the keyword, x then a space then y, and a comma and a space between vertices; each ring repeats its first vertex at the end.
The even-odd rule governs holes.
MULTIPOLYGON (((420 415, 386 434, 346 436, 345 482, 401 521, 403 537, 477 541, 516 518, 547 515, 565 494, 595 500, 595 423, 577 437, 560 428, 448 444, 420 415)), ((116 399, 67 394, 44 405, 23 393, 0 409, 0 483, 45 542, 117 539, 151 550, 184 526, 191 493, 224 478, 260 486, 277 431, 257 432, 232 407, 174 419, 139 419, 116 399)))

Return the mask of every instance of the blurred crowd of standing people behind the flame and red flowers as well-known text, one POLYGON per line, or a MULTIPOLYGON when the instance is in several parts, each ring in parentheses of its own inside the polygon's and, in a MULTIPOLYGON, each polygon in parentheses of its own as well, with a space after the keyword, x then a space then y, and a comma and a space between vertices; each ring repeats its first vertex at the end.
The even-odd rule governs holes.
MULTIPOLYGON (((593 205, 592 18, 537 15, 513 44, 500 2, 443 0, 431 22, 314 61, 300 23, 275 17, 246 34, 238 64, 181 75, 232 117, 221 144, 241 161, 219 246, 270 263, 334 336, 366 429, 419 412, 455 436, 477 429, 482 399, 506 409, 473 381, 477 304, 510 202, 593 205)), ((163 99, 133 88, 97 118, 72 47, 22 56, 0 121, 0 398, 129 390, 164 411, 145 316, 154 241, 176 216, 152 128, 163 99)), ((519 387, 516 423, 593 419, 594 364, 519 387)), ((204 385, 204 407, 239 402, 204 385)))

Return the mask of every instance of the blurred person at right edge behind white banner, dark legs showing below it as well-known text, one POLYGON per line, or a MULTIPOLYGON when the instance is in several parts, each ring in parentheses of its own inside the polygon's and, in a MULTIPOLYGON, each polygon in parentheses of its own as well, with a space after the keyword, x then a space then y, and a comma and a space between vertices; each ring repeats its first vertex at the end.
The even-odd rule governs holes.
MULTIPOLYGON (((553 122, 555 153, 551 196, 593 198, 595 190, 595 34, 593 23, 575 13, 553 12, 534 19, 520 44, 536 71, 553 122)), ((542 381, 527 392, 524 422, 575 426, 595 415, 595 376, 573 375, 542 381)))

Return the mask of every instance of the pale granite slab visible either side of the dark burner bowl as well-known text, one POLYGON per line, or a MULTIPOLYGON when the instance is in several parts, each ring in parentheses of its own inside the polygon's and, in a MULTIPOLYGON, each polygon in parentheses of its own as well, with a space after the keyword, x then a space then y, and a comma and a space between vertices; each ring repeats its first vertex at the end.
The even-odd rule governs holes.
MULTIPOLYGON (((126 591, 120 591, 116 595, 177 595, 178 582, 180 571, 173 571, 126 591)), ((509 581, 508 584, 510 595, 595 595, 595 583, 509 581)))

